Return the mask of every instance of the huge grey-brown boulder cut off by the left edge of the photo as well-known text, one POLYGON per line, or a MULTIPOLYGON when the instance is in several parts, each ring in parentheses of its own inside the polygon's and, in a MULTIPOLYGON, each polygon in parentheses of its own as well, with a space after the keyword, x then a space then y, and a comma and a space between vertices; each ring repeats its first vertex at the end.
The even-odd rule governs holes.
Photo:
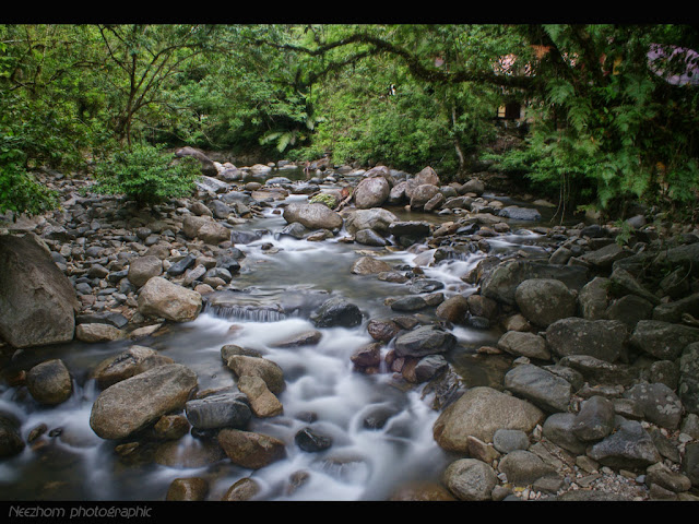
POLYGON ((0 236, 0 337, 17 348, 69 342, 75 333, 75 290, 39 242, 0 236))

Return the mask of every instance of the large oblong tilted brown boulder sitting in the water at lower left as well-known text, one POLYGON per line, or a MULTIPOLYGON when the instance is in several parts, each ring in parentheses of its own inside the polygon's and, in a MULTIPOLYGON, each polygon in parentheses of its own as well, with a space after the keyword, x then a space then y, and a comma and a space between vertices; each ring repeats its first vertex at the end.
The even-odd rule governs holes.
POLYGON ((155 367, 104 390, 92 406, 90 426, 103 439, 125 439, 182 409, 196 386, 197 373, 182 365, 155 367))

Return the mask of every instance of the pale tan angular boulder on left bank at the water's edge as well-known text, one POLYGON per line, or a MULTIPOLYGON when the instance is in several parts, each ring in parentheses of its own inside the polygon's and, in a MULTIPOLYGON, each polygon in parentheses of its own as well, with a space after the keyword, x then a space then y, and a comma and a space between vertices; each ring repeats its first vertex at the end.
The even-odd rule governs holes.
POLYGON ((155 276, 141 288, 138 303, 139 312, 145 317, 189 322, 201 312, 202 298, 197 291, 155 276))

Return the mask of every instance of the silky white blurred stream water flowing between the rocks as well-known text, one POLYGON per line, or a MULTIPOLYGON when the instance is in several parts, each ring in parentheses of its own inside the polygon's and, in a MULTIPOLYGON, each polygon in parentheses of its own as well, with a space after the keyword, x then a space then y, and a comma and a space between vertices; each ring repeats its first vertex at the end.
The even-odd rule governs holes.
MULTIPOLYGON (((303 201, 306 196, 288 199, 303 201)), ((401 219, 450 219, 391 211, 401 219)), ((214 454, 212 458, 206 442, 193 434, 177 441, 167 461, 129 460, 117 454, 114 442, 99 439, 90 428, 92 404, 99 394, 90 371, 132 343, 72 343, 17 352, 5 362, 5 373, 12 374, 49 358, 61 358, 73 377, 74 393, 59 406, 44 407, 25 388, 2 382, 0 412, 19 418, 25 441, 40 425, 47 431, 20 455, 0 461, 0 498, 164 500, 173 479, 203 477, 210 485, 209 500, 221 500, 235 481, 252 477, 262 487, 263 500, 386 500, 407 483, 437 479, 453 457, 434 441, 431 428, 439 413, 431 407, 430 394, 424 394, 422 386, 402 388, 386 369, 371 376, 359 373, 350 359, 358 347, 372 342, 366 330, 368 320, 393 314, 384 299, 410 293, 408 284, 351 274, 352 263, 371 251, 391 264, 410 265, 419 250, 345 243, 337 240, 344 231, 320 242, 297 240, 280 235, 285 225, 281 214, 268 207, 263 216, 240 226, 266 233, 259 240, 237 246, 246 258, 232 283, 234 289, 217 294, 220 299, 193 322, 170 324, 164 334, 138 342, 190 367, 199 377, 200 390, 235 385, 235 376, 221 358, 226 344, 257 349, 280 365, 286 381, 279 396, 284 413, 269 419, 253 418, 248 429, 286 442, 285 460, 254 472, 245 469, 225 456, 214 454), (275 347, 285 337, 316 329, 309 313, 331 296, 359 306, 363 324, 321 329, 322 338, 316 345, 275 347), (306 427, 331 437, 332 446, 319 453, 301 451, 294 436, 306 427), (179 462, 178 456, 182 457, 179 462), (300 478, 304 481, 295 481, 300 478)), ((488 240, 494 252, 542 249, 536 245, 537 235, 517 227, 512 230, 516 233, 488 240)), ((425 267, 425 274, 445 284, 440 291, 447 298, 469 294, 475 289, 461 276, 483 257, 485 253, 476 252, 445 260, 425 267)), ((501 383, 509 360, 475 354, 481 345, 495 344, 499 333, 465 326, 454 326, 453 333, 459 344, 447 359, 464 383, 501 383)))

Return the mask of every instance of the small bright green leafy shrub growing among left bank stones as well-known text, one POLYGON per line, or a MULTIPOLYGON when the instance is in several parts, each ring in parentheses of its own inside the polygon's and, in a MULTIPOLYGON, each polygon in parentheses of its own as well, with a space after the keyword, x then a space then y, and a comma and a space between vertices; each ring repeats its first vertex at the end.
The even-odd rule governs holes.
POLYGON ((162 148, 137 144, 131 151, 116 153, 97 165, 97 183, 91 190, 123 194, 141 206, 191 194, 201 175, 199 162, 192 157, 175 160, 175 155, 163 154, 162 148))

